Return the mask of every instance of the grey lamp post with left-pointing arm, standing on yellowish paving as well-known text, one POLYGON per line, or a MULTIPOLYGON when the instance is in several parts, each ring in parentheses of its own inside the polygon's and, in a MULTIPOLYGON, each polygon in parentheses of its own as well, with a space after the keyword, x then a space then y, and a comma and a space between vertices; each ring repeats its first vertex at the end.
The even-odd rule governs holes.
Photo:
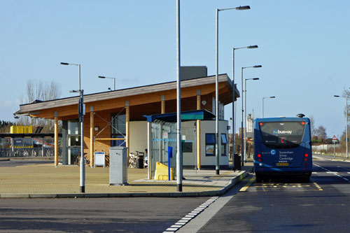
POLYGON ((78 92, 80 94, 78 104, 78 115, 80 123, 80 192, 85 192, 85 158, 84 158, 84 90, 80 86, 80 64, 61 62, 62 65, 78 66, 79 90, 70 90, 69 92, 78 92))

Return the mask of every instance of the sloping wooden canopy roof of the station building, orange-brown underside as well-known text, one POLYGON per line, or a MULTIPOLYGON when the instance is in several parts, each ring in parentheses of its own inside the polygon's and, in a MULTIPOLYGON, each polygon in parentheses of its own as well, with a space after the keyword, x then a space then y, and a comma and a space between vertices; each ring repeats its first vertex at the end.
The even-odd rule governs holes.
MULTIPOLYGON (((232 80, 230 80, 227 74, 221 74, 218 79, 219 101, 224 105, 232 103, 232 80)), ((191 103, 197 96, 197 90, 200 90, 200 95, 203 100, 207 99, 208 104, 207 106, 203 106, 203 108, 211 111, 211 99, 215 97, 215 76, 181 81, 181 101, 185 101, 181 104, 182 110, 196 109, 195 101, 193 101, 194 104, 191 103)), ((176 103, 176 81, 131 87, 123 90, 85 94, 85 111, 86 113, 90 112, 90 106, 93 106, 94 112, 116 111, 120 108, 124 108, 126 101, 128 101, 130 108, 133 106, 137 107, 137 109, 144 108, 145 111, 143 113, 140 111, 140 117, 135 118, 141 120, 145 119, 142 117, 143 115, 160 113, 159 111, 152 111, 151 106, 160 104, 161 96, 165 97, 165 102, 168 103, 169 106, 173 106, 176 103)), ((235 88, 235 100, 237 100, 237 97, 239 97, 239 91, 235 88)), ((77 118, 78 101, 79 97, 36 101, 31 104, 20 105, 20 110, 14 114, 31 115, 37 118, 54 118, 55 112, 57 112, 59 120, 77 118)), ((174 111, 169 108, 167 112, 174 111)))

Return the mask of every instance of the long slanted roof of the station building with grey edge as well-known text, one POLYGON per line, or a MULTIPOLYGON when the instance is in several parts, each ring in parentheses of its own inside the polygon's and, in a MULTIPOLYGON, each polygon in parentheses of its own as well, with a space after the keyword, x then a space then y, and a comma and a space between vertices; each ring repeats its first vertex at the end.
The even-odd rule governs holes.
MULTIPOLYGON (((232 103, 232 80, 228 77, 227 74, 221 74, 218 76, 219 80, 219 100, 225 105, 232 103)), ((181 81, 181 99, 196 96, 196 93, 192 90, 201 90, 201 94, 215 93, 215 76, 207 76, 202 78, 193 78, 189 80, 181 81), (191 92, 190 92, 191 90, 191 92), (202 93, 203 90, 203 93, 202 93), (204 92, 206 90, 206 92, 204 92)), ((146 104, 151 102, 150 94, 153 96, 160 96, 160 94, 166 93, 169 99, 176 99, 176 81, 167 82, 167 83, 158 83, 153 85, 144 85, 139 87, 130 87, 122 90, 108 91, 108 92, 99 92, 93 94, 84 95, 84 103, 86 104, 86 112, 90 111, 89 106, 94 106, 94 111, 101 111, 102 108, 120 108, 125 106, 125 100, 133 97, 137 101, 130 101, 130 106, 138 104, 146 104), (171 93, 171 94, 170 94, 171 93), (106 106, 106 102, 113 102, 115 104, 110 104, 111 106, 106 106), (116 100, 116 101, 115 101, 116 100), (123 101, 122 105, 116 104, 118 101, 123 101)), ((239 91, 235 88, 235 99, 239 97, 239 91)), ((59 111, 59 116, 69 115, 66 111, 68 106, 77 106, 79 97, 67 97, 62 99, 54 99, 50 101, 36 101, 30 104, 21 104, 20 110, 15 112, 16 115, 32 115, 39 118, 53 118, 52 111, 59 111)), ((77 108, 74 108, 74 111, 77 111, 77 108)), ((76 113, 74 113, 76 114, 76 113)))

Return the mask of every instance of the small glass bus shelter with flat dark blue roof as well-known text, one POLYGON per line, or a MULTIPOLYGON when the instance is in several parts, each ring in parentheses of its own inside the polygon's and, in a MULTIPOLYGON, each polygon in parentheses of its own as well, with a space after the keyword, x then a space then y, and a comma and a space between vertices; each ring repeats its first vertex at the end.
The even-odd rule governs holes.
MULTIPOLYGON (((144 117, 148 122, 148 178, 151 179, 155 175, 157 162, 176 170, 176 113, 144 115, 144 117)), ((182 152, 188 155, 188 158, 183 160, 184 167, 197 168, 201 159, 200 120, 213 120, 213 118, 215 115, 207 110, 181 112, 181 148, 182 152)))

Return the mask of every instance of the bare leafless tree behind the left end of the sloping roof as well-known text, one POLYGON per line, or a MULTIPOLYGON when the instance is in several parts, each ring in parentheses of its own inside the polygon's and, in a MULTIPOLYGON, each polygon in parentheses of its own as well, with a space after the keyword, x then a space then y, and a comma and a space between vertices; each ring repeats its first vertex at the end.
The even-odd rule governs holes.
MULTIPOLYGON (((41 80, 28 80, 26 94, 26 97, 20 97, 21 104, 29 104, 35 100, 48 101, 58 99, 62 95, 62 90, 55 81, 43 83, 41 80)), ((42 132, 52 132, 54 129, 54 122, 52 120, 31 118, 29 116, 20 116, 18 125, 33 125, 33 127, 42 126, 42 132)))

